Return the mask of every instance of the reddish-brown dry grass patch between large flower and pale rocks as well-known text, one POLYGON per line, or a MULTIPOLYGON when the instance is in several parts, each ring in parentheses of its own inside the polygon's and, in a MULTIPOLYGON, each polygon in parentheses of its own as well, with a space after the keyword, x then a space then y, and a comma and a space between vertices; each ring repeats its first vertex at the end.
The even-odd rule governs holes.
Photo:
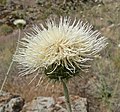
POLYGON ((26 102, 29 102, 33 100, 33 98, 36 98, 38 96, 52 96, 56 99, 56 97, 63 95, 60 85, 53 86, 52 84, 50 84, 48 85, 48 87, 46 87, 46 81, 46 83, 36 86, 38 83, 37 79, 39 79, 39 77, 37 77, 34 82, 29 84, 31 79, 32 77, 14 77, 11 79, 11 81, 8 81, 5 89, 11 93, 15 92, 16 94, 21 95, 23 98, 26 99, 26 102))

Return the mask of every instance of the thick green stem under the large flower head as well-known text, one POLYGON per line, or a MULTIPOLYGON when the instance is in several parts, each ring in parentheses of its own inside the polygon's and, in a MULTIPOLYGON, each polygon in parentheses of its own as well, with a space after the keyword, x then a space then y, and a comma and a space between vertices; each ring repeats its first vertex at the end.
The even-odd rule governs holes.
POLYGON ((63 88, 64 88, 64 95, 65 95, 65 100, 66 100, 66 107, 68 112, 72 112, 71 104, 70 104, 70 98, 69 98, 69 92, 68 88, 66 85, 66 82, 62 80, 63 88))

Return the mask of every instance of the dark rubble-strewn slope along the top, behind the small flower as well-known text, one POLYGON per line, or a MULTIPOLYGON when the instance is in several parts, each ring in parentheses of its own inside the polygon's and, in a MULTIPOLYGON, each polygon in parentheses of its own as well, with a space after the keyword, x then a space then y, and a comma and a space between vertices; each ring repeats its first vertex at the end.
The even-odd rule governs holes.
MULTIPOLYGON (((6 5, 0 4, 0 24, 13 26, 13 21, 18 18, 24 18, 28 24, 46 19, 48 16, 65 15, 71 10, 82 8, 82 5, 98 5, 111 3, 114 0, 7 0, 6 5), (46 10, 48 8, 48 10, 46 10), (54 11, 54 13, 52 12, 54 11)), ((119 0, 115 0, 116 2, 119 0)), ((114 1, 114 2, 115 2, 114 1)))

